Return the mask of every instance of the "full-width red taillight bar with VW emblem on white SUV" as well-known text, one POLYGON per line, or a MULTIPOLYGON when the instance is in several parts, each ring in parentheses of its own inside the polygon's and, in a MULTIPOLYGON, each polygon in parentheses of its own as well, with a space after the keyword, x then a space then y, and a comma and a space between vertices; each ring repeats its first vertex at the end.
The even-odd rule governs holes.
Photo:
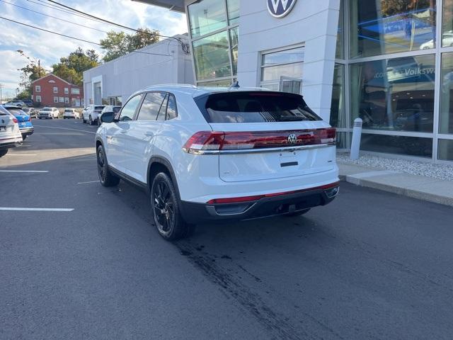
POLYGON ((266 149, 272 147, 301 147, 333 145, 335 128, 291 131, 218 132, 200 131, 185 143, 184 152, 199 154, 212 150, 266 149), (293 139, 289 136, 295 135, 293 139))

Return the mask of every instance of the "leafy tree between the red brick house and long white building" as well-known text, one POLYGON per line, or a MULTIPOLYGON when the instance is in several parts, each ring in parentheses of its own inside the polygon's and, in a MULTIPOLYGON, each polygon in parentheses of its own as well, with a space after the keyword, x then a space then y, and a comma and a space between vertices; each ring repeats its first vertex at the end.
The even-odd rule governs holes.
POLYGON ((59 63, 53 64, 53 74, 71 84, 81 86, 84 83, 84 71, 98 66, 99 55, 95 50, 84 50, 81 47, 62 57, 59 63))

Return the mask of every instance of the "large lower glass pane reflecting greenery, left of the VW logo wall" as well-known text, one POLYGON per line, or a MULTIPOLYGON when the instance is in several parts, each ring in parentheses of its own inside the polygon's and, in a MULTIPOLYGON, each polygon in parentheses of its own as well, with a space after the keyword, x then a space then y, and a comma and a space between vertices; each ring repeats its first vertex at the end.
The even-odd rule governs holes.
POLYGON ((231 77, 228 32, 193 42, 197 80, 231 77))

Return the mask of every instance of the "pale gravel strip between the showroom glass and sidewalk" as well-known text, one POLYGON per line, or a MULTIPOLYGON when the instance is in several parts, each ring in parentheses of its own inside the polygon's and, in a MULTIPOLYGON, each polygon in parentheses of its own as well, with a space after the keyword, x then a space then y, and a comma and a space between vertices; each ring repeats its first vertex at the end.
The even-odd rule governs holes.
POLYGON ((407 159, 385 158, 370 155, 362 155, 357 160, 349 159, 349 154, 337 154, 338 163, 370 166, 372 168, 385 169, 406 174, 433 177, 453 181, 453 166, 443 164, 431 164, 424 162, 409 161, 407 159))

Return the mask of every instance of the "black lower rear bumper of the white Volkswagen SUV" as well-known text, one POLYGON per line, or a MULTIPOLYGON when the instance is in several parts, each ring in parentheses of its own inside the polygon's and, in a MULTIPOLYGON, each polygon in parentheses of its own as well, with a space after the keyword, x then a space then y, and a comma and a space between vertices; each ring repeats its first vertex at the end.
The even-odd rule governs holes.
POLYGON ((185 221, 189 223, 253 220, 326 205, 336 198, 338 190, 339 182, 335 182, 323 188, 305 189, 241 203, 209 204, 181 201, 180 209, 185 221))

